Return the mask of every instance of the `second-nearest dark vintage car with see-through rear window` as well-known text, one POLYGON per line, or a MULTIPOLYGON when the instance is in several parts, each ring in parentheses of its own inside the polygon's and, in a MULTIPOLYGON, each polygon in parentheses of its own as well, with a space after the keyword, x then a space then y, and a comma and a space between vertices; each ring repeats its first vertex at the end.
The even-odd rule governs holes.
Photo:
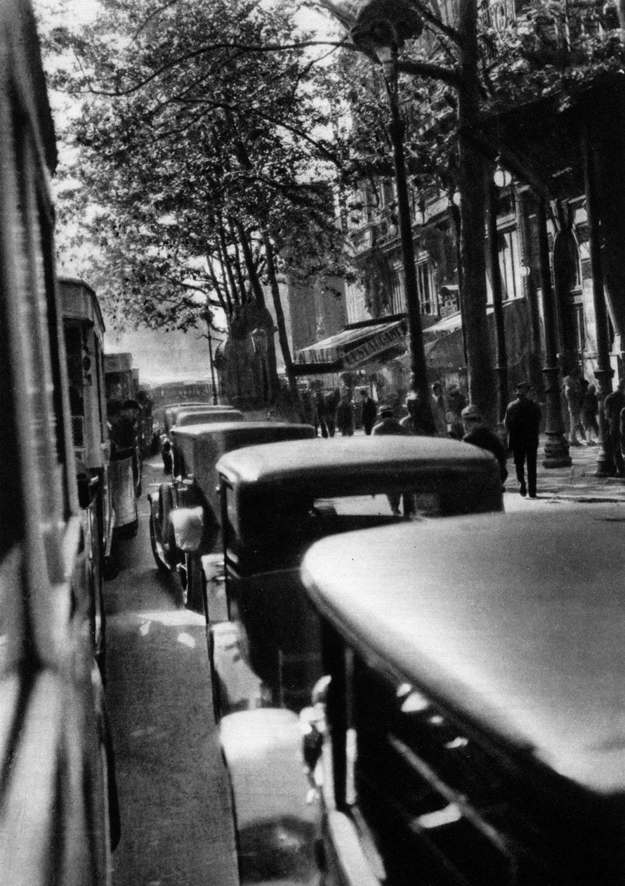
MULTIPOLYGON (((503 509, 493 456, 451 439, 293 441, 228 453, 217 470, 233 622, 228 632, 224 626, 212 630, 217 713, 254 706, 267 693, 296 711, 306 703, 321 675, 319 619, 299 579, 313 541, 400 520, 503 509), (240 649, 231 640, 234 626, 240 649), (251 670, 264 684, 254 698, 237 697, 230 685, 223 633, 236 656, 249 650, 251 670)), ((351 558, 346 544, 336 570, 348 568, 351 558)))

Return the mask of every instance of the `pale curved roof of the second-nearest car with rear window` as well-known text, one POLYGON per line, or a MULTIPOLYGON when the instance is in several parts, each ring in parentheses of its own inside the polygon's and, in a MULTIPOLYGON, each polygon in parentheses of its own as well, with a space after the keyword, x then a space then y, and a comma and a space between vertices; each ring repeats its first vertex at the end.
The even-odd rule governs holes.
POLYGON ((224 455, 218 470, 242 483, 286 482, 321 473, 341 477, 347 470, 411 470, 428 465, 468 470, 490 467, 490 453, 457 440, 436 437, 379 436, 292 440, 238 449, 224 455))

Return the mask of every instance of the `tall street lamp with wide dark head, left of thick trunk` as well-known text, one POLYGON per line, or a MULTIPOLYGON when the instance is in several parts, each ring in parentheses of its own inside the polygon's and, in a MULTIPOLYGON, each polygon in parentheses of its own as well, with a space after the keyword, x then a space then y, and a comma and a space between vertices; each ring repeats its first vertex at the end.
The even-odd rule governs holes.
MULTIPOLYGON (((374 2, 368 9, 374 8, 374 2)), ((414 254, 413 225, 410 217, 410 198, 405 171, 404 131, 405 125, 399 109, 397 89, 397 52, 405 38, 421 34, 422 21, 413 18, 411 30, 406 33, 406 21, 367 18, 367 6, 360 10, 359 20, 351 30, 351 38, 360 49, 372 52, 382 65, 384 85, 390 105, 389 135, 393 145, 395 181, 397 186, 397 217, 399 221, 402 259, 404 262, 405 301, 410 337, 410 386, 418 392, 425 424, 434 428, 428 390, 427 363, 423 349, 421 314, 419 312, 419 289, 414 254), (398 33, 398 28, 404 30, 398 33)))

